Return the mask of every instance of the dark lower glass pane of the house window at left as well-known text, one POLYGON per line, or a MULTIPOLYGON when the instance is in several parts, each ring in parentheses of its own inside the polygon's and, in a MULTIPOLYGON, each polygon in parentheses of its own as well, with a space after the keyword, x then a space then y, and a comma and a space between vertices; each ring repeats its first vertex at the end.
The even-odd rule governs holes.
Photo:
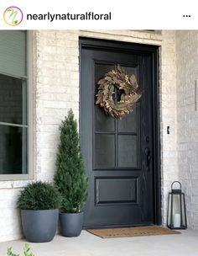
POLYGON ((27 173, 27 128, 0 125, 0 174, 27 173))

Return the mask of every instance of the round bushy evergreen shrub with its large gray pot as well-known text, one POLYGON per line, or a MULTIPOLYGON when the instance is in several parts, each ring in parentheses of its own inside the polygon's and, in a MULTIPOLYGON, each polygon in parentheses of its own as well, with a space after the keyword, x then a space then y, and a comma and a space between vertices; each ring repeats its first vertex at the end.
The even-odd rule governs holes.
POLYGON ((55 237, 61 195, 54 184, 36 181, 18 196, 23 234, 29 242, 45 243, 55 237))

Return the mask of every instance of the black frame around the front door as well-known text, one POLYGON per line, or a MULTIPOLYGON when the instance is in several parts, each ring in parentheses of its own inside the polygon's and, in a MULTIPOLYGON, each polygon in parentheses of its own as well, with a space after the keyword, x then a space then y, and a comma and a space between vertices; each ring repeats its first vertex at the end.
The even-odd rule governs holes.
POLYGON ((81 50, 83 49, 106 49, 107 51, 128 51, 133 54, 143 54, 152 56, 152 79, 153 79, 153 93, 152 93, 152 112, 153 112, 153 127, 154 127, 154 224, 161 225, 161 154, 160 154, 160 122, 159 122, 159 46, 157 45, 143 45, 137 43, 128 43, 114 40, 99 40, 92 38, 79 38, 80 51, 80 131, 81 131, 81 50))

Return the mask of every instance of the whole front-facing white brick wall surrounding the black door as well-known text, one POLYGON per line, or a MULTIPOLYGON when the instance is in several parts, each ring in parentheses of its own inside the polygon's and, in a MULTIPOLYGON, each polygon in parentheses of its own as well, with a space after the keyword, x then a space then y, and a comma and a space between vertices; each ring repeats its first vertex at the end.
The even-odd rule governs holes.
MULTIPOLYGON (((60 120, 68 109, 79 118, 79 36, 161 45, 160 122, 162 195, 166 208, 170 182, 177 177, 175 31, 162 35, 131 30, 39 30, 33 32, 34 178, 51 180, 55 172, 60 120), (74 95, 75 92, 75 95, 74 95), (170 134, 166 134, 166 126, 170 134)), ((21 236, 16 198, 27 182, 0 182, 0 241, 21 236), (9 191, 9 192, 8 192, 9 191), (8 203, 8 206, 4 205, 8 203), (4 228, 4 223, 7 227, 4 228), (2 228, 3 227, 3 228, 2 228)), ((164 208, 165 207, 165 208, 164 208)), ((163 216, 165 211, 163 210, 163 216)))

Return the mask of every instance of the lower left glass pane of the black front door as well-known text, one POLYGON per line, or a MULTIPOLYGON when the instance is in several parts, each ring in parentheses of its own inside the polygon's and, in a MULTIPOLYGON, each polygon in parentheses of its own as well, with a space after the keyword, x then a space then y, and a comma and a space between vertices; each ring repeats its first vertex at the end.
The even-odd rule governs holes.
POLYGON ((95 145, 95 167, 115 167, 115 136, 96 134, 95 145))

